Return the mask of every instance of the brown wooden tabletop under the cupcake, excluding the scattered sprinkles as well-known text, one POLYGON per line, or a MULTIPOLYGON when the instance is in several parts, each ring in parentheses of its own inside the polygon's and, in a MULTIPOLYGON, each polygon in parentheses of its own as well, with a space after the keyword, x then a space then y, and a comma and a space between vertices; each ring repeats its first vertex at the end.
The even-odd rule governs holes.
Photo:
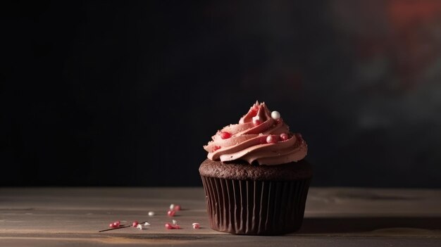
POLYGON ((0 188, 0 246, 121 245, 441 246, 441 189, 311 188, 299 232, 235 236, 209 228, 202 188, 0 188), (115 220, 151 226, 99 232, 115 220))

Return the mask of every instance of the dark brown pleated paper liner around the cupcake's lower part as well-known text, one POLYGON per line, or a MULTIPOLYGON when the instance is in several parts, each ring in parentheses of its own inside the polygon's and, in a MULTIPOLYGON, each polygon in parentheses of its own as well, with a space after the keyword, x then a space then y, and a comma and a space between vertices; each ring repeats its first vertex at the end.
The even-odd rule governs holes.
POLYGON ((211 228, 246 235, 282 235, 302 226, 311 179, 233 180, 201 176, 211 228))

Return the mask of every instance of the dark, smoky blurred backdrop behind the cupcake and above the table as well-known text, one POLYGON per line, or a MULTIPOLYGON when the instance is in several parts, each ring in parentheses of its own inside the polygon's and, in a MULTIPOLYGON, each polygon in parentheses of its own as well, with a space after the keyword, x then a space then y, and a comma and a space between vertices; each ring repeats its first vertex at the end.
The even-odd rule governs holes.
POLYGON ((315 186, 441 187, 440 1, 3 5, 2 186, 201 186, 259 100, 315 186))

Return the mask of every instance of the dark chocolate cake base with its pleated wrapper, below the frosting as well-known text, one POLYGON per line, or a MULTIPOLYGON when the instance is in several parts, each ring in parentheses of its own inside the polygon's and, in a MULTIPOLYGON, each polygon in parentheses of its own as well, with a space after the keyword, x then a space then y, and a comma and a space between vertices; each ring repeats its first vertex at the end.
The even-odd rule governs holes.
POLYGON ((212 229, 232 234, 282 235, 302 226, 312 177, 311 165, 306 161, 252 166, 205 160, 199 172, 212 229))

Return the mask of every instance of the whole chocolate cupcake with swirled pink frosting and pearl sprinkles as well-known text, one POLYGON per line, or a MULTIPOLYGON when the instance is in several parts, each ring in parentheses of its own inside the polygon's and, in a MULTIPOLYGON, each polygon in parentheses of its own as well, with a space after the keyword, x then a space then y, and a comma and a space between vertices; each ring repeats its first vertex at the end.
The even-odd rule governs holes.
POLYGON ((238 124, 211 138, 199 167, 211 228, 247 235, 296 232, 312 177, 302 135, 256 102, 238 124))

